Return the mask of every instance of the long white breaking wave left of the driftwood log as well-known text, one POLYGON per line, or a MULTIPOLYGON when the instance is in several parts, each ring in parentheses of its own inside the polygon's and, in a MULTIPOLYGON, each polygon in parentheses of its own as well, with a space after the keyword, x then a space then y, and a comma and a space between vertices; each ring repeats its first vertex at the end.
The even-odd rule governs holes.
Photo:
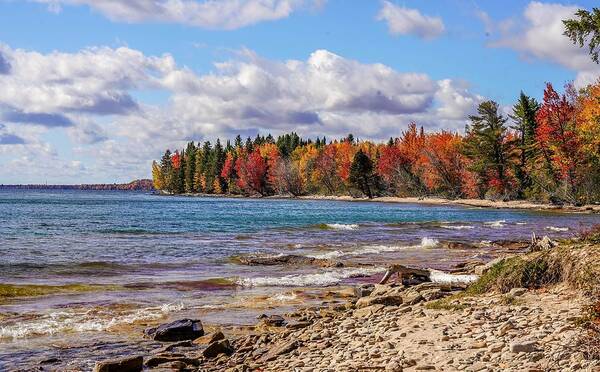
POLYGON ((344 279, 371 276, 383 271, 383 268, 355 268, 281 277, 243 278, 238 280, 238 284, 243 287, 326 287, 339 284, 344 279))

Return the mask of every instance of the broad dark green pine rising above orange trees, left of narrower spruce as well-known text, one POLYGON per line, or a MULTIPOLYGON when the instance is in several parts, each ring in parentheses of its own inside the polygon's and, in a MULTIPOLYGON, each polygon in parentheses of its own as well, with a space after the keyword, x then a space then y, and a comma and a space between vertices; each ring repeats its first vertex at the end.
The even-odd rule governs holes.
POLYGON ((464 153, 472 161, 471 170, 479 177, 479 196, 493 189, 503 198, 508 197, 509 165, 514 142, 507 133, 507 119, 498 113, 498 104, 485 101, 479 104, 479 115, 469 117, 464 141, 464 153))

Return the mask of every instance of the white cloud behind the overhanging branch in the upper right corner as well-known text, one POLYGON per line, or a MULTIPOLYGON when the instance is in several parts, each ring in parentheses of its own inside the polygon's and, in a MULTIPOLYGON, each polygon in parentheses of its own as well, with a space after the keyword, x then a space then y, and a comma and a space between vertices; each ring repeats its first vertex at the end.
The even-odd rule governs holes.
POLYGON ((600 66, 593 63, 587 49, 579 48, 563 35, 563 19, 572 18, 577 6, 530 2, 523 13, 522 27, 505 30, 490 43, 492 47, 511 48, 523 56, 549 60, 577 71, 575 84, 584 86, 600 77, 600 66))

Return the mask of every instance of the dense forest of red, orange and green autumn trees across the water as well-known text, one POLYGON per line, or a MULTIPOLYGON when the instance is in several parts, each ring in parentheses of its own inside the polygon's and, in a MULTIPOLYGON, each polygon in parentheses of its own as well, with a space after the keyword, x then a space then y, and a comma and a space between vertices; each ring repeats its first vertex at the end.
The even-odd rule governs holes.
POLYGON ((352 135, 240 136, 224 145, 190 142, 153 162, 154 187, 168 193, 329 194, 600 201, 600 83, 542 102, 521 93, 511 114, 479 105, 464 135, 411 124, 387 143, 352 135))

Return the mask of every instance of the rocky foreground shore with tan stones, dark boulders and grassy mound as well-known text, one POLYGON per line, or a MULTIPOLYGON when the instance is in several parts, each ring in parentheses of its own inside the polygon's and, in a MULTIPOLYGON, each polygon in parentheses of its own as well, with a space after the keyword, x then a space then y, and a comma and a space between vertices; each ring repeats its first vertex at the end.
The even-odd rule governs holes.
POLYGON ((481 276, 466 290, 404 277, 357 286, 347 302, 261 316, 241 336, 198 320, 162 325, 146 333, 164 346, 95 370, 600 370, 598 334, 585 327, 600 246, 532 248, 471 268, 481 276))

